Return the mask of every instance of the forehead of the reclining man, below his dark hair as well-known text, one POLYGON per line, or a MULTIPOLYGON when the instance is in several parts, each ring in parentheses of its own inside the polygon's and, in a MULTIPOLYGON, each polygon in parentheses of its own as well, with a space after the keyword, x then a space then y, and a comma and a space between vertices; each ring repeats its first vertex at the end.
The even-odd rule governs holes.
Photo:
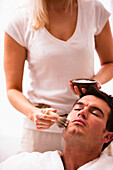
POLYGON ((78 102, 81 102, 88 106, 98 107, 99 109, 101 109, 103 111, 103 113, 110 112, 109 105, 104 100, 102 100, 96 96, 93 96, 93 95, 84 96, 81 99, 79 99, 78 102))

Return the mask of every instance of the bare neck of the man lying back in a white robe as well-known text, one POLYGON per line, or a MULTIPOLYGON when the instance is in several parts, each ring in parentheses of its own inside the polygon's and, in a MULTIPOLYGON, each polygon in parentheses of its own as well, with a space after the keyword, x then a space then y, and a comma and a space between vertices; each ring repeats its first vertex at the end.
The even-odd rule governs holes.
POLYGON ((85 150, 85 148, 81 146, 69 147, 65 145, 61 158, 66 170, 75 170, 88 163, 89 161, 98 158, 99 155, 99 152, 85 150))

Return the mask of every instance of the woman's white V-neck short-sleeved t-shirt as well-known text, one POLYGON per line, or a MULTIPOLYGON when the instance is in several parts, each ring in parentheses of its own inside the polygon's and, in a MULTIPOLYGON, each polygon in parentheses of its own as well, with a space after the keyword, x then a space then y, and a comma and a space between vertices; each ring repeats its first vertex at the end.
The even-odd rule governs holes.
MULTIPOLYGON (((34 30, 30 19, 21 15, 10 22, 5 32, 27 49, 31 103, 49 104, 58 114, 70 112, 77 96, 69 81, 94 75, 94 36, 102 31, 109 15, 96 0, 78 0, 77 26, 67 41, 55 38, 45 27, 34 30)), ((27 117, 25 127, 35 128, 27 117)), ((49 131, 60 130, 53 125, 49 131)))

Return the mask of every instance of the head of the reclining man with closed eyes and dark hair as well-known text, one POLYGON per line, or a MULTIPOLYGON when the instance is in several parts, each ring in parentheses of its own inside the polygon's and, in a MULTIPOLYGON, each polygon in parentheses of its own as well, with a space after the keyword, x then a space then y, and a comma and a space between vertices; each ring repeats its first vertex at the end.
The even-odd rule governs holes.
POLYGON ((113 98, 97 88, 80 97, 68 118, 64 138, 71 136, 73 144, 103 150, 113 139, 113 98))

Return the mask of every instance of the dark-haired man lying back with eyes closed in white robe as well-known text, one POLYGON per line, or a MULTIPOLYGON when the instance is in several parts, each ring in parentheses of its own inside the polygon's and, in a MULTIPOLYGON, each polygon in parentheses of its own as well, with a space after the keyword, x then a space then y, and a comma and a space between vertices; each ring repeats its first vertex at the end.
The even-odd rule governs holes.
POLYGON ((91 88, 68 119, 63 153, 20 153, 1 163, 0 170, 112 170, 113 157, 102 151, 113 139, 113 97, 91 88))

